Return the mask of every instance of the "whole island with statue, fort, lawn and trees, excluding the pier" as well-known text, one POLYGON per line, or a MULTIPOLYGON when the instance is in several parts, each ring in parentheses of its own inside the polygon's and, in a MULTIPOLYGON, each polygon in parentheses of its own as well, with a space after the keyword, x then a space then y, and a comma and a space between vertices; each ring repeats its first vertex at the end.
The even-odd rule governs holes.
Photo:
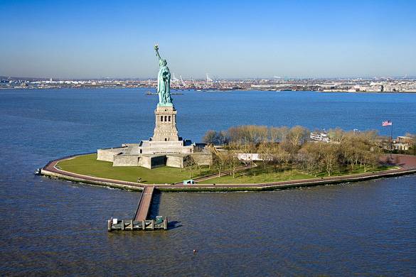
POLYGON ((274 190, 414 173, 415 156, 383 153, 373 131, 334 129, 314 141, 302 126, 208 130, 203 143, 178 136, 167 61, 159 63, 154 135, 137 143, 50 161, 43 175, 142 190, 274 190))

